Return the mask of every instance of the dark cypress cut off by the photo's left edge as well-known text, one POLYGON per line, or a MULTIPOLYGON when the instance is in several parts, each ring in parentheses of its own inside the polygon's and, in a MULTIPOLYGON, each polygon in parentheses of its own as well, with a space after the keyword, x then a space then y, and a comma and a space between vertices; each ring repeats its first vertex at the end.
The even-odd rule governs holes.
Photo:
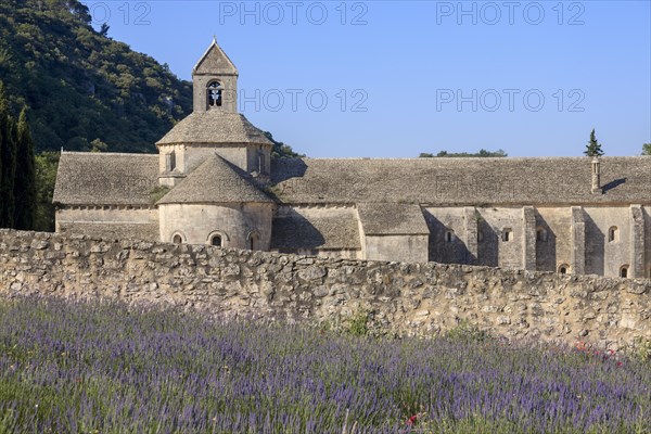
POLYGON ((16 142, 15 126, 9 115, 9 102, 4 92, 4 85, 0 82, 0 161, 2 162, 2 176, 0 177, 0 228, 13 228, 14 221, 14 181, 16 177, 16 142))

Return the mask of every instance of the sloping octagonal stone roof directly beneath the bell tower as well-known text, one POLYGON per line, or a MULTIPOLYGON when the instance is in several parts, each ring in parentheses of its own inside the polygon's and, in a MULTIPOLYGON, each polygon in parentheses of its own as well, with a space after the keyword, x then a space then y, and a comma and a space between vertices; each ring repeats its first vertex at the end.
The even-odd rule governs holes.
POLYGON ((177 143, 256 143, 272 145, 263 131, 254 127, 244 115, 217 110, 190 114, 175 125, 156 144, 177 143))

